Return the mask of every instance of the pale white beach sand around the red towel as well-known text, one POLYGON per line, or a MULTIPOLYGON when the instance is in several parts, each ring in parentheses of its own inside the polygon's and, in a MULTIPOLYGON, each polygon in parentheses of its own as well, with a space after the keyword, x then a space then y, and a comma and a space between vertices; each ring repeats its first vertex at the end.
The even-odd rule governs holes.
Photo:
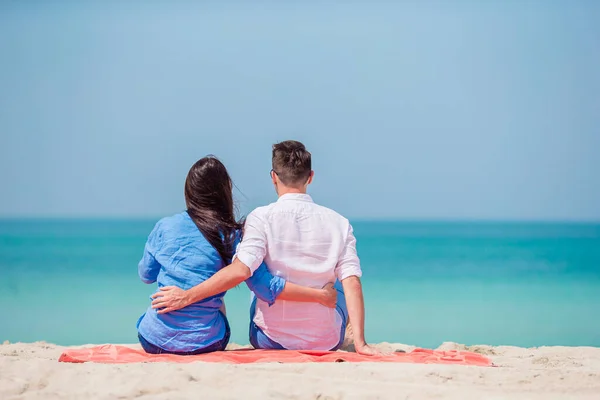
MULTIPOLYGON (((410 346, 379 345, 384 350, 410 346)), ((600 348, 465 346, 496 368, 417 364, 64 364, 0 345, 0 399, 600 399, 600 348)))

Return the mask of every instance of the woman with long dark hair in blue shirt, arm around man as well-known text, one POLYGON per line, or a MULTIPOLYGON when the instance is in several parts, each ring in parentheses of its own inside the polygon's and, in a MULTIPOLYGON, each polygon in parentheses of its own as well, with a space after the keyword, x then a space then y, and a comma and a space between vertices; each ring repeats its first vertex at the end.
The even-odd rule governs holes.
MULTIPOLYGON (((187 211, 161 219, 148 237, 138 265, 144 283, 189 289, 231 262, 242 224, 235 220, 232 183, 225 166, 208 156, 196 162, 185 181, 187 211)), ((321 302, 335 306, 335 293, 305 288, 272 276, 265 265, 247 282, 261 300, 321 302)), ((176 312, 150 306, 137 323, 138 338, 152 354, 191 355, 224 350, 230 328, 220 293, 176 312)))

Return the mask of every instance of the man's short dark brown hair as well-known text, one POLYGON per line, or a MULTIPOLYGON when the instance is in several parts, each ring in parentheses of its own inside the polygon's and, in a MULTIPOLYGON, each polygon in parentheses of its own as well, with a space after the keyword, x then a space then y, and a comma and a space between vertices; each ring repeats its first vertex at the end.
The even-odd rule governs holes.
POLYGON ((310 153, 295 140, 274 144, 273 171, 286 186, 303 185, 312 171, 310 153))

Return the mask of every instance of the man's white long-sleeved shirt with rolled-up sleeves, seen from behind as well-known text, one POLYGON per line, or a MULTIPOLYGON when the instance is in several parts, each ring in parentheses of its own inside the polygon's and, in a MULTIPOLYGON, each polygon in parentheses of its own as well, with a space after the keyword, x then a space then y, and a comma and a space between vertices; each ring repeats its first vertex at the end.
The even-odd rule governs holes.
MULTIPOLYGON (((252 273, 265 261, 273 275, 313 288, 362 275, 349 221, 307 194, 285 194, 250 213, 236 257, 252 273)), ((290 350, 330 350, 342 327, 335 309, 284 300, 269 307, 257 299, 254 323, 290 350)))

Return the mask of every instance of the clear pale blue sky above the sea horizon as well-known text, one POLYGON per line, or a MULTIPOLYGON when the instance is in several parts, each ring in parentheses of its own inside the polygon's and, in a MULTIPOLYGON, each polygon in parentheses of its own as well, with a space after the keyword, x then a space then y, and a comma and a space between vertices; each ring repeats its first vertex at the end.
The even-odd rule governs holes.
POLYGON ((293 138, 351 218, 600 220, 597 2, 281 3, 3 2, 0 215, 167 215, 209 153, 247 212, 293 138))

